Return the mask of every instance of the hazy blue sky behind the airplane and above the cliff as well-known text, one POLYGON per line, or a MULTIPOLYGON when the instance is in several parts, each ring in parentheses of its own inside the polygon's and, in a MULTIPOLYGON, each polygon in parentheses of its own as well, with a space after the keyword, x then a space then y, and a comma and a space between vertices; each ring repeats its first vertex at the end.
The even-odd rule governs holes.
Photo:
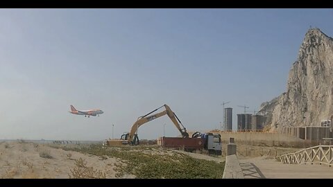
MULTIPOLYGON (((309 26, 333 36, 332 9, 0 10, 0 139, 103 140, 164 103, 188 130, 286 91, 309 26), (99 108, 85 118, 69 114, 99 108)), ((179 133, 167 116, 139 139, 179 133)))

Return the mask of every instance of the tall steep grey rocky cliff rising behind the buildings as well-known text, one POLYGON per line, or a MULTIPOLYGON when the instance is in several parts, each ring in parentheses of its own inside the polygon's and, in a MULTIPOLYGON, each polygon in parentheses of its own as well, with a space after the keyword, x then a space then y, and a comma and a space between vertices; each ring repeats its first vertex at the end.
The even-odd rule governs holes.
POLYGON ((263 103, 271 130, 319 125, 333 119, 333 38, 318 28, 307 31, 298 59, 289 71, 287 92, 263 103))

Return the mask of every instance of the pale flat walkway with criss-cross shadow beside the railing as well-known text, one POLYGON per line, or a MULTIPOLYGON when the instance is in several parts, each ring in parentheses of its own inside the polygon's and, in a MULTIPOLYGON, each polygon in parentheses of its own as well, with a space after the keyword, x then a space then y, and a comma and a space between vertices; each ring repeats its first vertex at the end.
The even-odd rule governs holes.
POLYGON ((239 159, 239 164, 245 179, 333 179, 333 167, 315 163, 285 164, 256 157, 239 159))

